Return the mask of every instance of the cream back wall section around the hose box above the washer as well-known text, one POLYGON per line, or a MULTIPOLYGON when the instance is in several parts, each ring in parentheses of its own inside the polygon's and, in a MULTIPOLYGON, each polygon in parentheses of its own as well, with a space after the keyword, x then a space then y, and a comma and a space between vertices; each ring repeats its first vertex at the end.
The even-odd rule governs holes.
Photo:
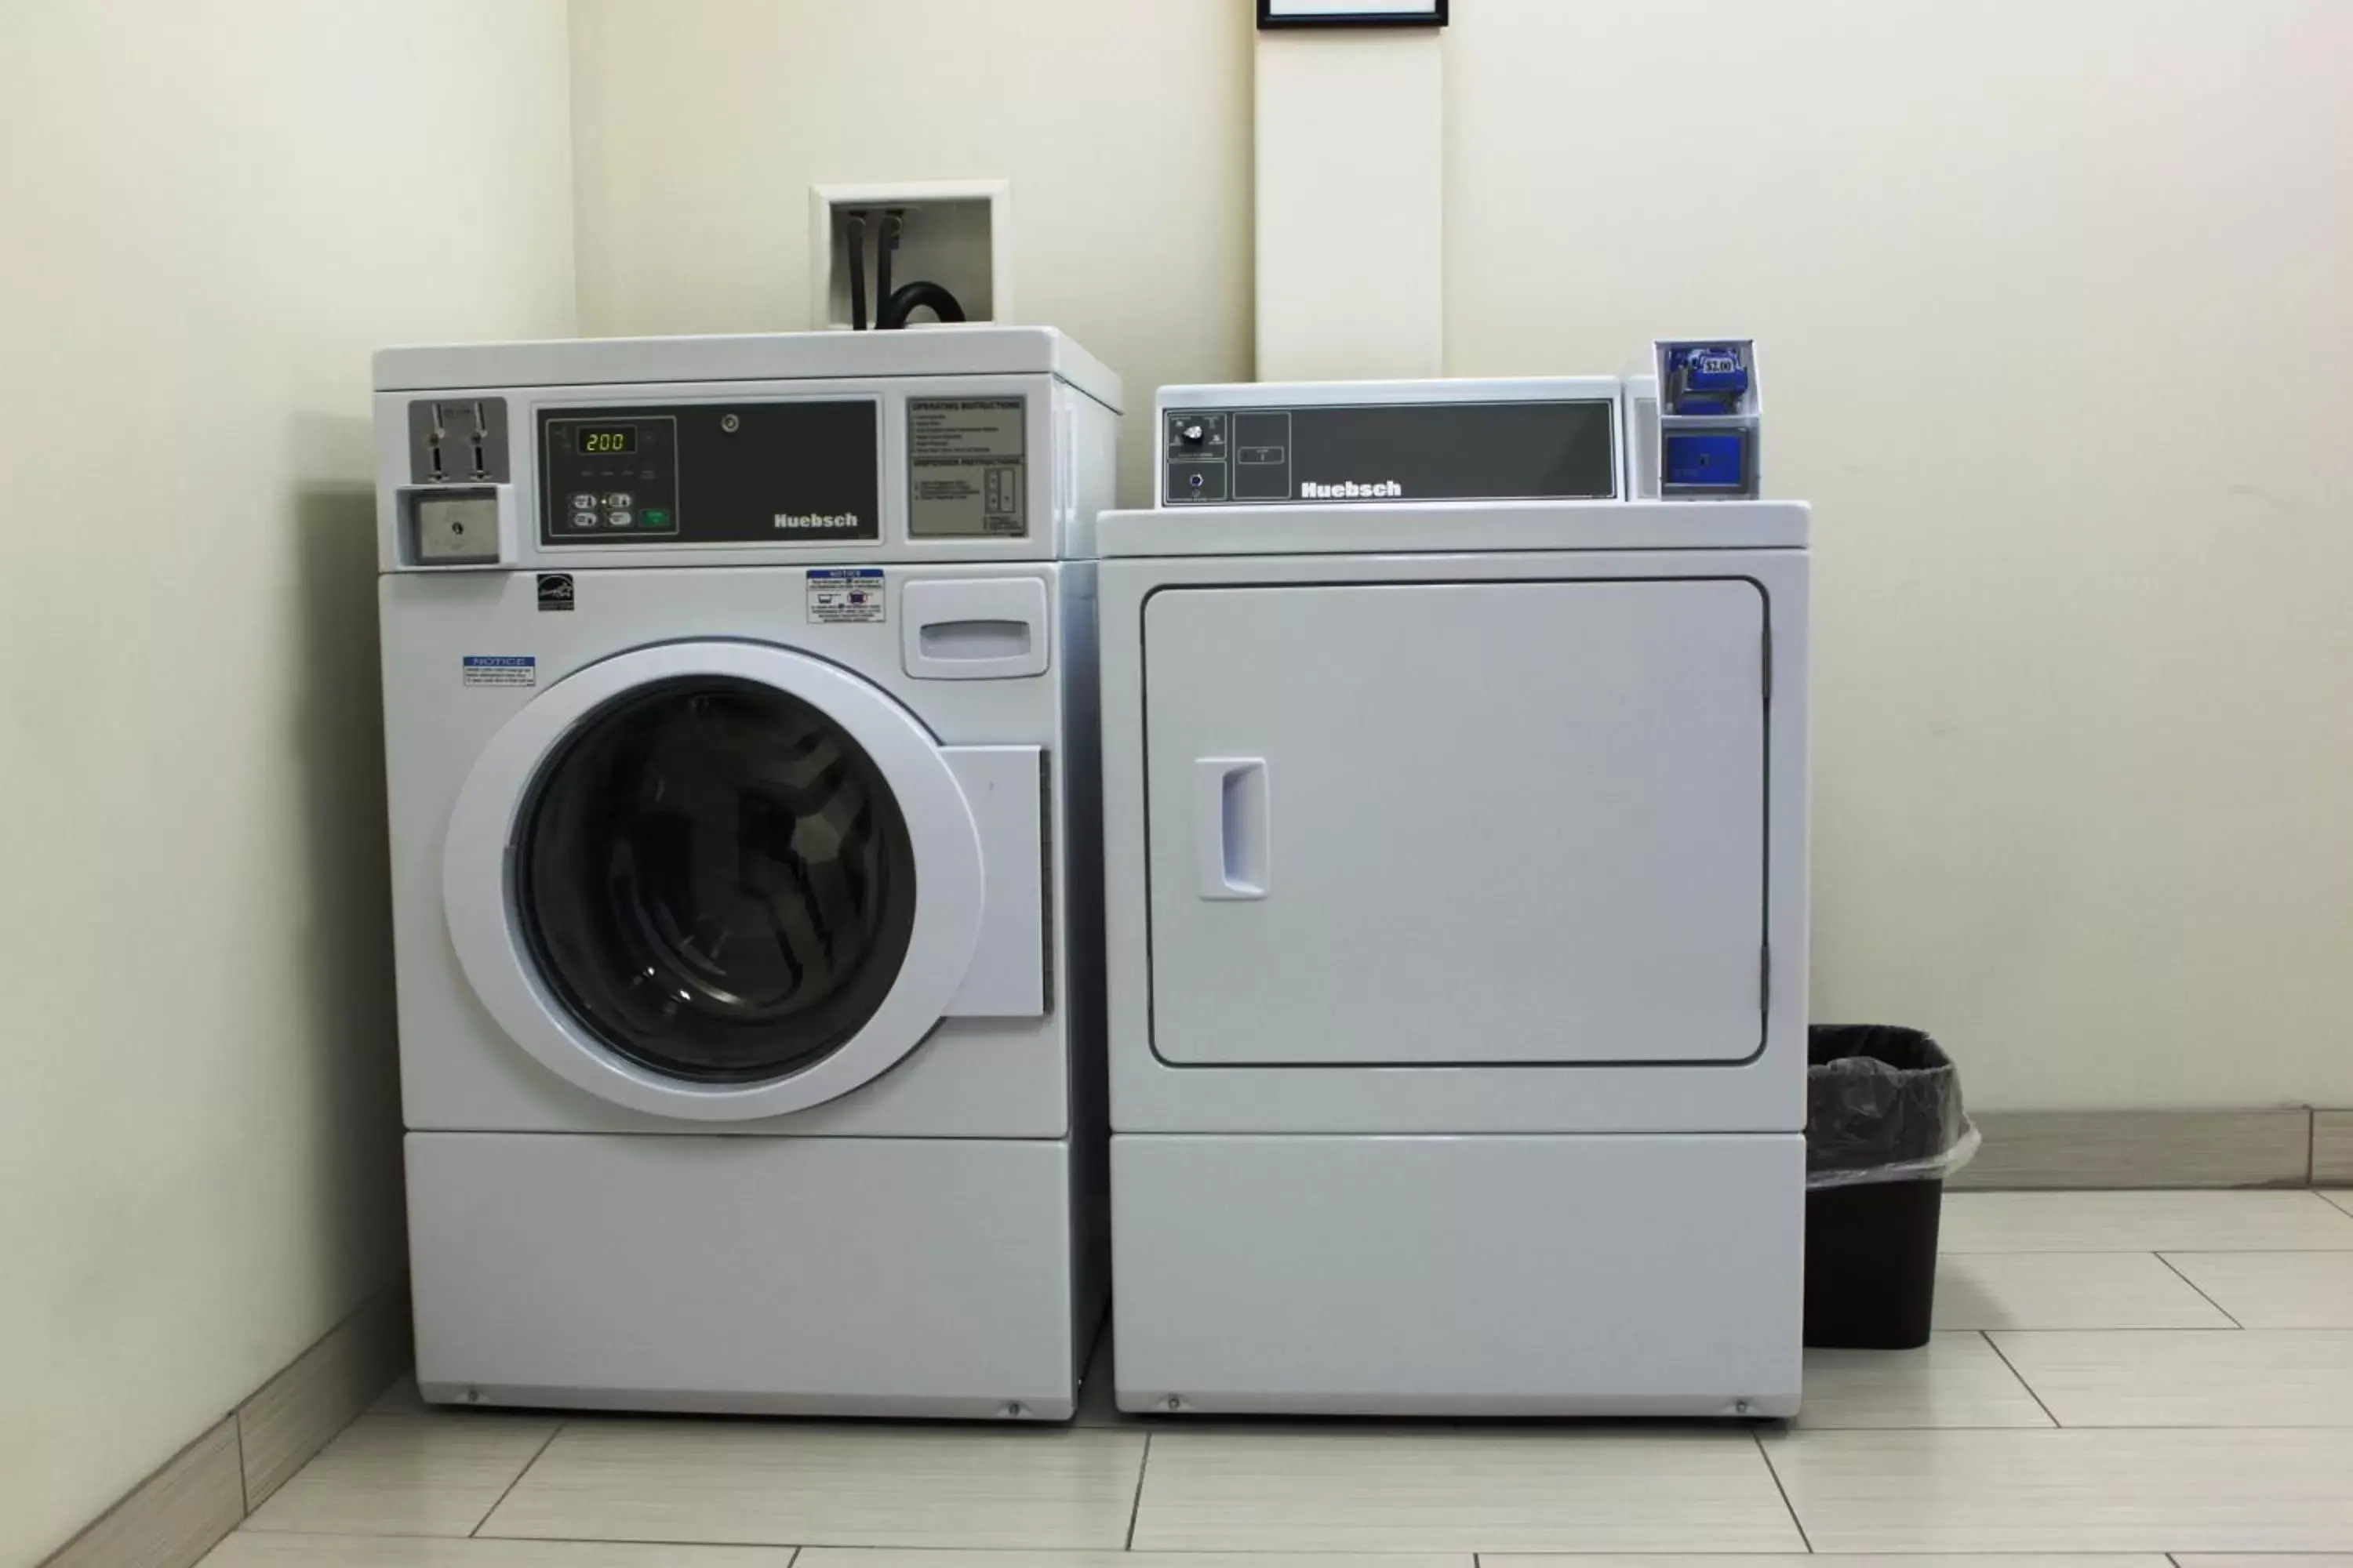
MULTIPOLYGON (((1249 374, 1240 0, 574 0, 581 329, 809 327, 809 186, 1009 179, 1014 306, 1151 395, 1249 374)), ((901 268, 901 280, 906 270, 901 268)))

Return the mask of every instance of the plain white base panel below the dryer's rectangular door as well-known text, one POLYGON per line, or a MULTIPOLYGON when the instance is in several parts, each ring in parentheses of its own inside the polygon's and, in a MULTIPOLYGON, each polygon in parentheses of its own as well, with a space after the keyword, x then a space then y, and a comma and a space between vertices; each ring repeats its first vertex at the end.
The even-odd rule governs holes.
POLYGON ((1122 1410, 1798 1410, 1802 1133, 1113 1135, 1111 1194, 1122 1410))

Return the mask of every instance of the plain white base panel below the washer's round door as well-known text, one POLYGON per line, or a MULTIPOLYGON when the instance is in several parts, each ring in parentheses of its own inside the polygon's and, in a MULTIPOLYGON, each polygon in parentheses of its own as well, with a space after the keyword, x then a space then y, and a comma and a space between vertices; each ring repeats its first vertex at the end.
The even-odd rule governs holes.
POLYGON ((1059 1140, 409 1133, 407 1190, 438 1403, 1064 1420, 1101 1316, 1059 1140))

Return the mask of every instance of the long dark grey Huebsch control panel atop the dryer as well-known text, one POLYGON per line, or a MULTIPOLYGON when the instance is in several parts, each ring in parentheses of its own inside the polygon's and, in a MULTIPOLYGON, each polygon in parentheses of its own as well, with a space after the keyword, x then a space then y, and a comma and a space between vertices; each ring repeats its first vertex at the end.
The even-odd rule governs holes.
MULTIPOLYGON (((1417 383, 1419 386, 1419 383, 1417 383)), ((1447 383, 1431 383, 1447 386, 1447 383)), ((1475 386, 1475 383, 1454 383, 1475 386)), ((1231 393, 1280 388, 1231 388, 1231 393)), ((1619 400, 1400 397, 1160 409, 1162 505, 1609 501, 1619 400)))

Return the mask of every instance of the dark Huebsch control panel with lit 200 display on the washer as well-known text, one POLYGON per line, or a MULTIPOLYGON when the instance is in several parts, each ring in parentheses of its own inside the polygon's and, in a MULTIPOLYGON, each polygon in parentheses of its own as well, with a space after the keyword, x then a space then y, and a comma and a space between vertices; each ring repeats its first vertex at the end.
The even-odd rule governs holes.
POLYGON ((539 543, 878 538, 868 397, 539 411, 539 543))

